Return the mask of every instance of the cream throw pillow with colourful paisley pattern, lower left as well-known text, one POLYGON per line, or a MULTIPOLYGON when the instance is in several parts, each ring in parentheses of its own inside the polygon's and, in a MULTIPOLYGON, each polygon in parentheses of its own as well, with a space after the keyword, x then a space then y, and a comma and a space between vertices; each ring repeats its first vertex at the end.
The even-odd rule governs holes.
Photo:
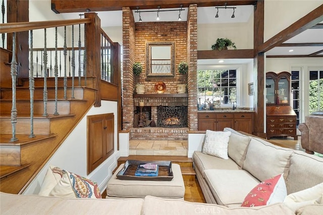
POLYGON ((64 198, 101 198, 96 182, 66 171, 49 196, 64 198))

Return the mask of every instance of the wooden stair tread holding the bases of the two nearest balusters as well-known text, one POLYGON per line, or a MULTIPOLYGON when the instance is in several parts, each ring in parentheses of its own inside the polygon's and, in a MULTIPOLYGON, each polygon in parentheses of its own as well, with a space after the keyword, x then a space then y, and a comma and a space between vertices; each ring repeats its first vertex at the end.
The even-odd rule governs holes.
POLYGON ((35 135, 35 137, 30 138, 29 135, 26 134, 17 134, 16 137, 18 138, 17 141, 11 142, 12 134, 0 134, 0 144, 1 145, 26 145, 29 143, 34 143, 37 141, 42 141, 45 139, 56 137, 57 134, 50 134, 50 135, 35 135))

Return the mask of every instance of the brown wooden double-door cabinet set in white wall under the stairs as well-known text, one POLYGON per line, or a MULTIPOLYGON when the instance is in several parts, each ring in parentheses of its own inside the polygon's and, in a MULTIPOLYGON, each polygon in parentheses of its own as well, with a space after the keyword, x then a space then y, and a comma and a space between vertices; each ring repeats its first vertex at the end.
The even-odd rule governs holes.
POLYGON ((114 153, 114 114, 87 116, 87 174, 114 153))

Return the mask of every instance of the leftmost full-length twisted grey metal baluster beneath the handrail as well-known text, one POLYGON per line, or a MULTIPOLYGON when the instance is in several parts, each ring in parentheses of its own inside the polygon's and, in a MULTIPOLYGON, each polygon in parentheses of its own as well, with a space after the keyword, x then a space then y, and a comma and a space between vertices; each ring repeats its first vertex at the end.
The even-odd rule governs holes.
POLYGON ((17 80, 17 61, 16 61, 16 32, 12 36, 12 61, 11 61, 11 78, 12 78, 12 108, 11 108, 11 124, 12 138, 11 142, 17 141, 16 124, 17 124, 17 107, 16 107, 16 80, 17 80))

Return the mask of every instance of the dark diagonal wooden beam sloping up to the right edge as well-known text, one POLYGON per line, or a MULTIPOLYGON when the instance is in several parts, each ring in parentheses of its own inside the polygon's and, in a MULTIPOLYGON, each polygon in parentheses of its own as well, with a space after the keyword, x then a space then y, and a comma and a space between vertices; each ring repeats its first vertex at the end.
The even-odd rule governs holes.
POLYGON ((323 5, 314 9, 306 16, 294 22, 292 25, 282 30, 272 38, 268 39, 259 46, 258 52, 266 52, 296 36, 297 34, 309 29, 310 27, 320 23, 321 21, 323 21, 323 5))

